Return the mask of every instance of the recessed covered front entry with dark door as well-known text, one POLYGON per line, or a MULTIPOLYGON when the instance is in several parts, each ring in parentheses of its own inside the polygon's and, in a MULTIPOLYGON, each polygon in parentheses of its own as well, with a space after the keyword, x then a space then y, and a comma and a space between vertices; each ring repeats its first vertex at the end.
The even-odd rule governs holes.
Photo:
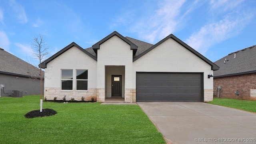
POLYGON ((105 98, 124 98, 125 66, 105 66, 105 98))

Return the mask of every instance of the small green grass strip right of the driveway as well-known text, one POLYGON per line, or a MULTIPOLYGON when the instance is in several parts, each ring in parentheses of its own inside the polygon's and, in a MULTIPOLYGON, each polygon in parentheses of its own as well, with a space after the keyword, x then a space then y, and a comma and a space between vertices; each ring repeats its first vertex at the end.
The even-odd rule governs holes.
POLYGON ((210 104, 216 104, 220 106, 226 106, 230 108, 236 108, 239 110, 245 110, 248 112, 256 112, 256 101, 251 100, 238 100, 232 98, 214 98, 210 104))

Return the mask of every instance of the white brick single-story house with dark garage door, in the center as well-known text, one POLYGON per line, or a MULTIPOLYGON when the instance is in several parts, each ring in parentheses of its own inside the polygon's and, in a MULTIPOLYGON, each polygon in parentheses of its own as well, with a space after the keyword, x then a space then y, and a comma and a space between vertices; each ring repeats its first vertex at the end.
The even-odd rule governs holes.
POLYGON ((91 48, 72 42, 44 62, 44 96, 104 102, 204 102, 213 99, 210 73, 219 67, 170 34, 149 44, 118 32, 91 48))

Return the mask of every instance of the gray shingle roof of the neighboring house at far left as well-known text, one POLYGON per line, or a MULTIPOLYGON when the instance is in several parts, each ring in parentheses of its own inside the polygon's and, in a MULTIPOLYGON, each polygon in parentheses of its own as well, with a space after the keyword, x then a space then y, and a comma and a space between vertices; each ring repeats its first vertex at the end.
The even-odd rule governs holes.
MULTIPOLYGON (((40 69, 0 49, 0 73, 39 78, 40 69)), ((44 72, 43 72, 44 74, 44 72)))

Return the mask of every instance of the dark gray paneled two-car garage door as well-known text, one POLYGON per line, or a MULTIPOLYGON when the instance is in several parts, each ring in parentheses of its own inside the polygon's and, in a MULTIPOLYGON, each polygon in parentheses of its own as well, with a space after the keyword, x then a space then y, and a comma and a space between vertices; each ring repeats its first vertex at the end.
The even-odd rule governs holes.
POLYGON ((202 102, 202 90, 202 73, 136 73, 136 102, 202 102))

